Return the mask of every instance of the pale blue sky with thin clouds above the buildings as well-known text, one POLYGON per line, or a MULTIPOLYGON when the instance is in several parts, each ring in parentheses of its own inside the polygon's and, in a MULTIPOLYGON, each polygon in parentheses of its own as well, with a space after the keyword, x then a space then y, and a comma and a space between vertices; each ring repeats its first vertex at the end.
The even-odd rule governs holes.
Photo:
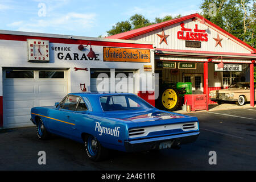
POLYGON ((154 21, 199 13, 202 1, 0 0, 0 30, 97 37, 135 13, 154 21))

